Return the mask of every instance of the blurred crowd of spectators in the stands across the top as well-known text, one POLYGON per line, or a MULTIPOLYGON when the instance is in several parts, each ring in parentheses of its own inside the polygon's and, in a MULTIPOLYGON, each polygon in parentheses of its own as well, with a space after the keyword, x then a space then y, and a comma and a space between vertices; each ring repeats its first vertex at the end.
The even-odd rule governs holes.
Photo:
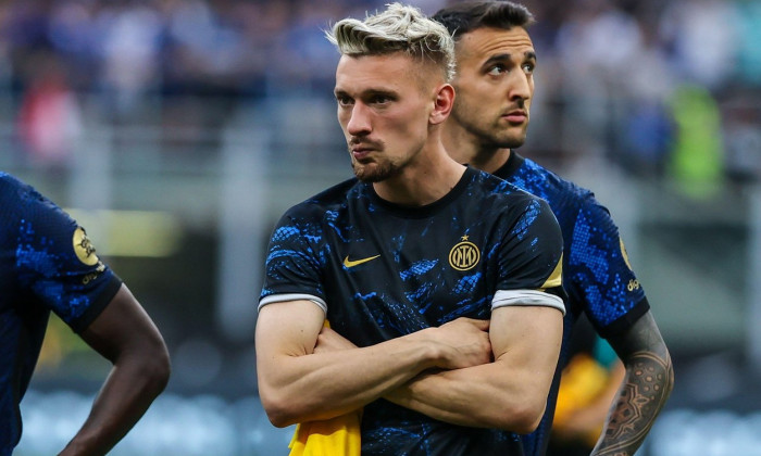
MULTIPOLYGON (((323 30, 385 2, 4 0, 0 84, 38 155, 59 153, 54 130, 78 127, 84 94, 114 121, 142 118, 147 99, 214 98, 226 109, 211 121, 203 103, 169 117, 220 125, 240 102, 329 98, 337 54, 323 30)), ((432 14, 446 1, 410 3, 432 14)), ((761 1, 523 3, 538 20, 534 149, 686 180, 761 176, 761 1)))

